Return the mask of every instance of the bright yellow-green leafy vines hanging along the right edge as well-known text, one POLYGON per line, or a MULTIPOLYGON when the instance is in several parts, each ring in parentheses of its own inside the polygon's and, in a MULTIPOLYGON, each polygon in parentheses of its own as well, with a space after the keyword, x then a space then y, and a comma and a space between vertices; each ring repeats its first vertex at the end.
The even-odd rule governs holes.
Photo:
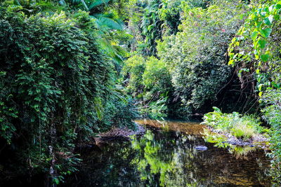
MULTIPOLYGON (((254 81, 251 90, 259 93, 263 119, 272 127, 275 169, 280 170, 280 1, 257 4, 230 43, 229 64, 236 64, 242 85, 254 81)), ((281 183, 280 174, 274 174, 281 183)))

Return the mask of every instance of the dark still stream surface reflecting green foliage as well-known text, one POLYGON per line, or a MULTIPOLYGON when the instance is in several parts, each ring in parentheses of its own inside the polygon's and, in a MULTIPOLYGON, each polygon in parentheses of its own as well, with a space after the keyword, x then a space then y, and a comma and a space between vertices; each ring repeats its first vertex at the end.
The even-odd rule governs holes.
POLYGON ((165 130, 158 128, 162 123, 149 123, 150 130, 131 142, 81 153, 84 165, 65 186, 270 186, 263 151, 237 159, 205 143, 198 123, 165 123, 165 130), (202 145, 207 151, 195 149, 202 145))

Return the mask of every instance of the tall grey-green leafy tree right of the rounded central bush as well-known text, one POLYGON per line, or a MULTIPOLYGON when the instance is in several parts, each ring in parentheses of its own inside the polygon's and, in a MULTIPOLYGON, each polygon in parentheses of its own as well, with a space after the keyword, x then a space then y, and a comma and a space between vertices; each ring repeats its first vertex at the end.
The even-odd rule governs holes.
POLYGON ((240 25, 242 8, 223 2, 207 9, 185 7, 184 20, 176 36, 159 43, 171 71, 176 94, 183 104, 199 109, 216 95, 230 78, 226 50, 240 25))

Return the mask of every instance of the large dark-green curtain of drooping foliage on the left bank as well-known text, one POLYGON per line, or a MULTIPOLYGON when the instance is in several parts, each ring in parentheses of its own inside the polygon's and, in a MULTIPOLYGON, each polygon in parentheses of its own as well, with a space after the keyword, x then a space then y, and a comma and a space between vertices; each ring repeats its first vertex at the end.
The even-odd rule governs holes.
POLYGON ((58 182, 79 162, 75 143, 114 125, 133 128, 136 111, 115 88, 115 63, 89 13, 27 8, 0 8, 0 141, 10 160, 1 165, 20 162, 15 174, 46 172, 58 182))

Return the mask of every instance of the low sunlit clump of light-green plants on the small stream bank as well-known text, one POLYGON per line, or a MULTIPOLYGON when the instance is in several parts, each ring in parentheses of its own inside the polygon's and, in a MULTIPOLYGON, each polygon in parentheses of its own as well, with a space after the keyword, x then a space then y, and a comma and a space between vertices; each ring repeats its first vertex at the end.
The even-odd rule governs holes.
POLYGON ((217 107, 213 108, 213 112, 204 115, 204 121, 202 123, 214 128, 216 132, 231 134, 243 141, 248 141, 256 134, 266 132, 266 129, 261 127, 259 118, 255 116, 242 116, 237 112, 222 113, 217 107))

